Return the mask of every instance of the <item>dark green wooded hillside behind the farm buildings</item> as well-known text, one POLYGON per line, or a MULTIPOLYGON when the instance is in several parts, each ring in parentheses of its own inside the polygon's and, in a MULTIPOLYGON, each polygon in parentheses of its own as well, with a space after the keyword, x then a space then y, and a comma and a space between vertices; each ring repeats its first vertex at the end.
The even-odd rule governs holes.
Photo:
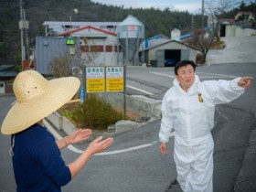
MULTIPOLYGON (((188 12, 171 11, 168 8, 123 8, 123 6, 101 5, 91 0, 22 0, 29 21, 28 39, 31 48, 35 37, 44 36, 44 21, 88 21, 88 22, 122 22, 128 15, 137 17, 144 23, 145 38, 157 34, 170 36, 171 30, 178 28, 181 34, 191 32, 192 16, 188 12), (72 10, 78 8, 79 15, 72 10)), ((20 0, 0 0, 0 65, 18 65, 21 60, 20 0)), ((205 20, 207 20, 205 18, 205 20)), ((201 27, 201 16, 193 16, 193 27, 201 27)))

